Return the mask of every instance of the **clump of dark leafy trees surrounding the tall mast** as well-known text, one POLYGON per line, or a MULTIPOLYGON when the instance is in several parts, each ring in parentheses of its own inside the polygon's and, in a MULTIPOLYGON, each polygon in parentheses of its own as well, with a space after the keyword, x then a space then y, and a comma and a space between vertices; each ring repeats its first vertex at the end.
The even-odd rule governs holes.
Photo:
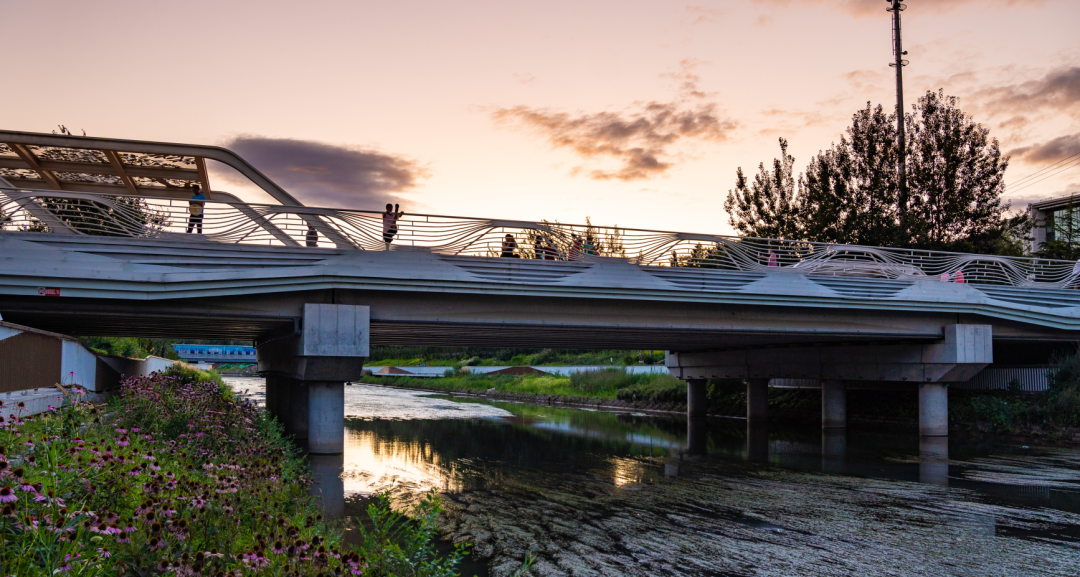
POLYGON ((794 159, 781 139, 773 171, 753 186, 740 169, 724 203, 740 233, 846 244, 1017 254, 1030 229, 1007 217, 1004 171, 996 139, 944 92, 928 92, 905 115, 908 222, 900 223, 895 115, 860 110, 838 144, 791 177, 794 159), (788 184, 789 186, 781 186, 788 184))

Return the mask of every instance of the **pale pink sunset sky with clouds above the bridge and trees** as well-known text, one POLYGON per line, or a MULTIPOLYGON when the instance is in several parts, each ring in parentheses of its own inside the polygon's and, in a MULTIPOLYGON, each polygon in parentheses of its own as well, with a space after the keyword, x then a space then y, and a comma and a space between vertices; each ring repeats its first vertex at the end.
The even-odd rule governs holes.
MULTIPOLYGON (((228 146, 307 204, 730 233, 738 166, 894 106, 887 5, 2 0, 0 128, 228 146)), ((1007 183, 1080 152, 1080 2, 907 5, 908 104, 960 96, 1007 183)))

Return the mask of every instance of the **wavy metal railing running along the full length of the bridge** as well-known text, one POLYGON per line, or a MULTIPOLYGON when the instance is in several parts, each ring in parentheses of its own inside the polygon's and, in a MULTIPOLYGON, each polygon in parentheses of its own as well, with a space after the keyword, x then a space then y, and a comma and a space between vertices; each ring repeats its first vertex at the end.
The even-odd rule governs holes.
POLYGON ((299 249, 423 251, 451 256, 621 260, 745 273, 1075 288, 1080 264, 806 241, 372 211, 117 197, 0 187, 0 229, 299 249), (389 239, 389 242, 388 242, 389 239))

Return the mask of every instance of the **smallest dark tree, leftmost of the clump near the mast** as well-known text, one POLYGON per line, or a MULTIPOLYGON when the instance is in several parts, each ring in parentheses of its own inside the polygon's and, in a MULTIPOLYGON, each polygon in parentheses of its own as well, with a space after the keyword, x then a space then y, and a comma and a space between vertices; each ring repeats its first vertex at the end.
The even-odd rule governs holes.
POLYGON ((787 153, 787 139, 780 139, 780 158, 772 170, 758 164, 754 183, 746 184, 742 167, 735 173, 735 188, 728 191, 724 210, 728 223, 744 237, 799 239, 801 227, 792 169, 795 158, 787 153))

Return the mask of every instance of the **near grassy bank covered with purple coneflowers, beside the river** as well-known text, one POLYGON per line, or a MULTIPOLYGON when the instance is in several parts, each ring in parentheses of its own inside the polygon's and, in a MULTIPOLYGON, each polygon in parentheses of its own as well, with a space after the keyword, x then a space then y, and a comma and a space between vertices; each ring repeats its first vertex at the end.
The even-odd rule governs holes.
POLYGON ((431 545, 434 496, 413 520, 378 500, 364 547, 343 549, 280 426, 205 373, 127 379, 106 406, 78 394, 4 407, 0 575, 454 574, 431 545))

